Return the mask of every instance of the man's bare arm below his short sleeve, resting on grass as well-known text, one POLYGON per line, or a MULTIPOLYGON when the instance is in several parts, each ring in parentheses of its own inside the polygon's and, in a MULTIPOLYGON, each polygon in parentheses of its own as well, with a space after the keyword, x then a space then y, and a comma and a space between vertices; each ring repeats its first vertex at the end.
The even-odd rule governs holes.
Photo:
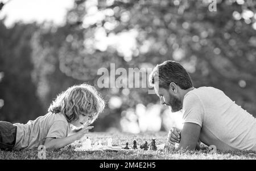
POLYGON ((195 150, 199 140, 201 127, 196 123, 186 122, 181 130, 179 148, 195 150))

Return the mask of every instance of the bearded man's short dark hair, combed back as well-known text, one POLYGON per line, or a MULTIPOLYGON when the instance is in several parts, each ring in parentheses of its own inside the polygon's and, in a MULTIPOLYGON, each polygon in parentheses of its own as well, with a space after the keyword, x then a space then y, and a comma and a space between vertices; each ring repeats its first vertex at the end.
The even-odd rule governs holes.
POLYGON ((193 87, 191 77, 180 63, 175 61, 164 61, 156 65, 150 74, 150 84, 154 86, 155 79, 158 77, 159 87, 169 89, 170 83, 174 82, 182 89, 193 87))

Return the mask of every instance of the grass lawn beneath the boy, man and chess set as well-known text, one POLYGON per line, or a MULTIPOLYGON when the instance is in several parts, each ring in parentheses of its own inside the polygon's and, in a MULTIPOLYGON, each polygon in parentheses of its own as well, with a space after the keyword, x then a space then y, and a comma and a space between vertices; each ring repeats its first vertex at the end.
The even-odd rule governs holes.
MULTIPOLYGON (((93 132, 89 133, 88 137, 92 140, 92 143, 101 140, 102 144, 106 144, 107 138, 113 138, 113 146, 123 145, 129 142, 133 144, 133 140, 137 140, 137 146, 141 146, 145 140, 150 145, 151 139, 156 139, 156 144, 166 143, 166 148, 162 151, 143 151, 142 149, 135 149, 129 151, 88 151, 77 152, 74 151, 76 147, 79 147, 78 142, 72 143, 59 150, 47 150, 47 159, 256 159, 256 152, 253 151, 217 151, 216 154, 209 154, 209 149, 204 145, 201 145, 200 151, 182 152, 176 150, 166 140, 167 132, 147 132, 141 134, 127 134, 127 133, 109 133, 109 132, 93 132)), ((34 150, 20 150, 20 151, 1 151, 0 159, 38 159, 38 151, 34 150)))

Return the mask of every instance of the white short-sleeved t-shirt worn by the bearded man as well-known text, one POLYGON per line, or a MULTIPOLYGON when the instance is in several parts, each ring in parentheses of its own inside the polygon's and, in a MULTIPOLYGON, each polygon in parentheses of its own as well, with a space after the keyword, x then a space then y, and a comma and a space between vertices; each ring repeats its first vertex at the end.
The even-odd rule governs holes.
POLYGON ((256 151, 256 119, 220 89, 200 87, 183 100, 183 123, 201 127, 200 141, 223 150, 256 151))

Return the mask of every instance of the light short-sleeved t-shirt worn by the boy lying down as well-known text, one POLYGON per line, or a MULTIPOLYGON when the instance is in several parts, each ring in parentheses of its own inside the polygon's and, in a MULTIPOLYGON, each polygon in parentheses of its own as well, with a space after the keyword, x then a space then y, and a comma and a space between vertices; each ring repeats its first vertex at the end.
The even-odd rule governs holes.
POLYGON ((65 138, 70 131, 67 119, 61 113, 47 113, 17 126, 14 149, 32 149, 44 144, 46 138, 65 138))

